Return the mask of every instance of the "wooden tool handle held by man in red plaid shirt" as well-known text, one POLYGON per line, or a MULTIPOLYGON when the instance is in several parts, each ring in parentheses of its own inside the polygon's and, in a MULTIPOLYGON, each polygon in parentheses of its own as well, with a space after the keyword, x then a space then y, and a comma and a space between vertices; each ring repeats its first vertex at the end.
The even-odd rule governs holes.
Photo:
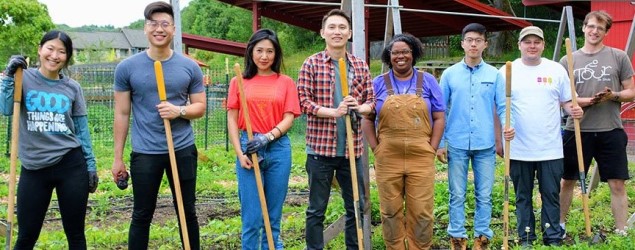
MULTIPOLYGON (((346 62, 344 58, 339 60, 340 82, 342 85, 342 96, 348 95, 348 78, 346 76, 346 62)), ((355 207, 355 226, 357 227, 357 245, 359 249, 364 249, 364 233, 360 221, 359 209, 359 187, 357 186, 357 166, 355 165, 355 144, 353 142, 353 126, 351 124, 350 112, 344 117, 346 121, 346 146, 348 147, 348 160, 351 165, 351 179, 353 184, 353 206, 355 207)))

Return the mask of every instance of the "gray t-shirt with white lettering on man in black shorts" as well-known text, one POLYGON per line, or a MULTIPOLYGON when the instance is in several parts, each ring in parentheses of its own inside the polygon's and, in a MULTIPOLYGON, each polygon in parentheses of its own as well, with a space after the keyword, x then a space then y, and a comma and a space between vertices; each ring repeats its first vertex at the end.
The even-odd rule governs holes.
MULTIPOLYGON (((566 56, 560 59, 565 68, 566 56)), ((573 52, 573 74, 576 91, 580 97, 593 97, 609 87, 613 91, 622 90, 622 81, 633 76, 631 60, 622 50, 605 46, 597 53, 586 54, 580 50, 573 52)), ((605 132, 622 127, 620 102, 606 101, 584 108, 580 119, 580 131, 605 132)), ((567 119, 567 130, 573 131, 573 119, 567 119)))

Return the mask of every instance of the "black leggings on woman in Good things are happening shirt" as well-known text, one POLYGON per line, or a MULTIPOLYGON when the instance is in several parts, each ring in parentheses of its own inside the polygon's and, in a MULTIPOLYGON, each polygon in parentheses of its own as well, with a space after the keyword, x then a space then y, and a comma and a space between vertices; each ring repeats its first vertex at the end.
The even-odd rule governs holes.
POLYGON ((33 249, 40 236, 53 189, 57 193, 68 249, 86 249, 84 220, 88 202, 88 170, 81 148, 69 151, 50 167, 28 170, 18 183, 18 240, 15 249, 33 249))

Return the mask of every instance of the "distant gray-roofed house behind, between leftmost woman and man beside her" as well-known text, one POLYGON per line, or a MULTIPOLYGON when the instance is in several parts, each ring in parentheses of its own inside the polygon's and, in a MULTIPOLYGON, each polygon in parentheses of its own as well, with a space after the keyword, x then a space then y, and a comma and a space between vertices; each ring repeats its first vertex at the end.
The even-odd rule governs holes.
POLYGON ((73 54, 79 64, 121 61, 148 48, 143 30, 119 29, 118 32, 68 32, 73 39, 73 54))

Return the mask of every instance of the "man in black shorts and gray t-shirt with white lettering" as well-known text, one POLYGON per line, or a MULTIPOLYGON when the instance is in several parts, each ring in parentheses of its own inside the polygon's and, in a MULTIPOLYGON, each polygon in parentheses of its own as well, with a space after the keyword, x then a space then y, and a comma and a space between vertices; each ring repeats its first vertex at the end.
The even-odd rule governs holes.
MULTIPOLYGON (((626 234, 628 200, 625 181, 629 179, 626 144, 620 106, 635 98, 633 67, 624 51, 603 43, 611 28, 611 16, 593 11, 584 19, 584 46, 573 53, 575 88, 578 104, 584 108, 580 119, 585 172, 595 159, 600 179, 611 189, 611 210, 616 232, 626 234)), ((566 57, 560 63, 567 65, 566 57)), ((564 228, 578 176, 578 158, 573 120, 567 120, 563 135, 564 174, 560 192, 560 226, 564 228)))

